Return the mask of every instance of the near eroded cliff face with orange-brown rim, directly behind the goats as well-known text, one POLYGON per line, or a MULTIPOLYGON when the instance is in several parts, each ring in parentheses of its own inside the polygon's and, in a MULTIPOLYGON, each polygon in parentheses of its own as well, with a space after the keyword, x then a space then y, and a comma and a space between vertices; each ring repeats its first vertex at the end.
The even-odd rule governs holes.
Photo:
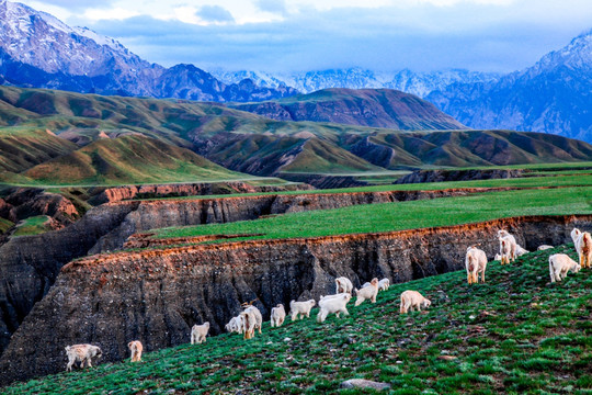
MULTIPOLYGON (((491 258, 496 233, 519 244, 570 241, 592 216, 520 217, 442 228, 287 240, 253 240, 139 252, 98 255, 62 268, 49 293, 14 334, 0 359, 2 383, 62 371, 64 347, 91 342, 103 361, 127 357, 140 339, 148 351, 189 342, 190 328, 208 320, 223 330, 242 302, 265 319, 277 303, 334 292, 333 279, 354 285, 373 276, 403 282, 464 268, 469 245, 491 258)), ((464 274, 459 274, 464 275, 464 274)))

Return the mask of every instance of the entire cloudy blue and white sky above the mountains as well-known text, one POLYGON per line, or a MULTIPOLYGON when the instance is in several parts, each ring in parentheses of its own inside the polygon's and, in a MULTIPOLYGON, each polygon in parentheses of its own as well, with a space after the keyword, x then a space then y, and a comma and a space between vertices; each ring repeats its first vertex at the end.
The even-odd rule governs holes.
POLYGON ((592 29, 591 0, 20 0, 162 66, 510 72, 592 29))

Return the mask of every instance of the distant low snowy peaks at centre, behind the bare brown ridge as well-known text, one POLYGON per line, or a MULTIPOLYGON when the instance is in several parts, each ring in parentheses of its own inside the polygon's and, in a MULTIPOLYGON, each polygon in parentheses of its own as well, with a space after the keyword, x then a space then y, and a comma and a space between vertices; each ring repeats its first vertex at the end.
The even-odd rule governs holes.
POLYGON ((420 98, 426 97, 434 90, 442 90, 455 82, 487 82, 497 80, 500 77, 491 72, 459 69, 433 72, 413 72, 408 69, 397 72, 375 72, 362 68, 349 68, 292 74, 218 69, 212 70, 212 74, 228 83, 236 83, 241 79, 250 78, 261 87, 277 88, 285 84, 305 93, 327 88, 389 88, 412 93, 420 98))

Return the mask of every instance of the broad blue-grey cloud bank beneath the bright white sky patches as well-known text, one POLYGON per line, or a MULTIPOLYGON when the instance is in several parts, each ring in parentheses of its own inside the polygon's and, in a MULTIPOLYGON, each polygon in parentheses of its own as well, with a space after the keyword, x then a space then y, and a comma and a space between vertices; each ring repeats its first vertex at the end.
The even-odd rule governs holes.
MULTIPOLYGON (((91 21, 89 27, 163 66, 192 63, 206 70, 357 66, 377 71, 466 68, 505 72, 528 67, 567 45, 589 30, 592 20, 589 0, 406 7, 291 12, 282 20, 242 24, 200 25, 140 15, 91 21)), ((220 16, 215 13, 209 20, 218 22, 220 16)))

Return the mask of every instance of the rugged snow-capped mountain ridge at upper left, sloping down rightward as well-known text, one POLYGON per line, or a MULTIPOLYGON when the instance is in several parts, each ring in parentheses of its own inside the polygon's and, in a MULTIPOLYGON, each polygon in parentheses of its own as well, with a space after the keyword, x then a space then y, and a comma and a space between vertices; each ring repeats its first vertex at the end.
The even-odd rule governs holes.
POLYGON ((212 101, 258 101, 296 93, 248 82, 226 84, 192 65, 167 69, 113 38, 87 27, 70 27, 50 14, 7 0, 0 0, 0 82, 212 101))

